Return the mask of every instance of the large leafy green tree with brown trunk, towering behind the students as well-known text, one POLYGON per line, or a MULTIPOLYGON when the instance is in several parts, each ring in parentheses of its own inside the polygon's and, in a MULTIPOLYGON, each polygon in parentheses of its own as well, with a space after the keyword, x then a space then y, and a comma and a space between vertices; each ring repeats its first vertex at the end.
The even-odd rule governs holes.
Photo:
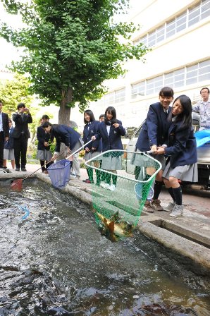
POLYGON ((1 24, 0 36, 25 56, 13 69, 29 73, 31 91, 44 105, 60 107, 59 123, 68 123, 70 107, 80 110, 106 91, 104 80, 124 73, 122 63, 141 59, 147 49, 132 45, 132 23, 111 23, 128 0, 1 0, 10 13, 20 13, 27 27, 13 30, 1 24), (123 39, 123 40, 121 40, 123 39))

